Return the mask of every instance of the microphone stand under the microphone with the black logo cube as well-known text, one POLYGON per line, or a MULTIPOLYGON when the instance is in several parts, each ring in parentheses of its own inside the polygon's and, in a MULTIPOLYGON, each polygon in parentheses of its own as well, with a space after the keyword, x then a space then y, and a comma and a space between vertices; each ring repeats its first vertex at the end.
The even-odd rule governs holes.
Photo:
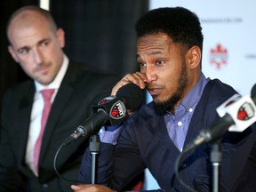
POLYGON ((94 134, 90 139, 90 151, 92 154, 92 184, 96 183, 97 155, 100 152, 100 136, 94 134))

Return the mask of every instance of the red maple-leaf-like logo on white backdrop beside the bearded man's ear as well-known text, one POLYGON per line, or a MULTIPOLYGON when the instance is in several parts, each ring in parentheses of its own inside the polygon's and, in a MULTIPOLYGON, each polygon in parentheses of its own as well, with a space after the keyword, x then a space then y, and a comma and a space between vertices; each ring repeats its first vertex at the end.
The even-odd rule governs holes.
POLYGON ((210 63, 217 69, 228 64, 228 50, 221 44, 210 50, 210 63))

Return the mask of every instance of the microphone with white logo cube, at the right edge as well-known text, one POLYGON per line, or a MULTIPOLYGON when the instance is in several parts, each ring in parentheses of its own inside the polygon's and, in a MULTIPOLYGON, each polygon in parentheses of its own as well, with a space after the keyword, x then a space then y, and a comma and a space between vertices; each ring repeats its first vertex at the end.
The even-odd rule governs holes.
POLYGON ((195 140, 188 143, 182 152, 196 148, 204 142, 220 139, 225 132, 243 132, 256 121, 256 84, 254 84, 250 96, 241 97, 239 94, 233 95, 217 108, 221 117, 213 122, 201 132, 195 140))

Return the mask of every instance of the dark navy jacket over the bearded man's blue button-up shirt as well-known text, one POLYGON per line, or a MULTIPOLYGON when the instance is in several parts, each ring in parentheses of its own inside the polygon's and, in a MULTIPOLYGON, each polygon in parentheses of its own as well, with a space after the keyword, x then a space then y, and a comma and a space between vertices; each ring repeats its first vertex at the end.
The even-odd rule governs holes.
MULTIPOLYGON (((205 85, 191 118, 184 146, 194 140, 207 125, 220 118, 216 108, 235 93, 233 88, 219 80, 210 80, 205 85)), ((188 191, 180 185, 174 173, 174 163, 180 151, 169 137, 164 116, 156 114, 152 103, 140 108, 122 129, 116 147, 100 143, 98 183, 122 191, 132 178, 148 167, 161 187, 159 191, 188 191)), ((238 133, 226 132, 221 140, 223 157, 220 162, 220 191, 230 191, 239 179, 255 138, 252 128, 238 133)), ((91 156, 88 151, 85 155, 80 180, 90 183, 88 162, 91 161, 91 156)), ((181 157, 180 178, 190 188, 212 191, 210 156, 211 143, 204 143, 181 157)))

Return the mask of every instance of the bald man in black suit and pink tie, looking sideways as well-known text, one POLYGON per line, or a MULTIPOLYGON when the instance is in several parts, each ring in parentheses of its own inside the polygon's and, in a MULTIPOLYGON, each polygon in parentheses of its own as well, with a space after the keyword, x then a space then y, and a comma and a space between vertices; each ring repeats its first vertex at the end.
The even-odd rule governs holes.
MULTIPOLYGON (((110 94, 116 76, 101 74, 68 59, 62 51, 64 31, 49 12, 26 6, 7 26, 12 58, 31 78, 4 94, 1 112, 0 191, 71 191, 53 169, 54 156, 76 126, 91 116, 91 105, 110 94), (34 149, 40 135, 44 100, 52 89, 52 108, 45 125, 38 165, 34 149)), ((56 167, 63 178, 76 180, 88 140, 63 148, 56 167)))

